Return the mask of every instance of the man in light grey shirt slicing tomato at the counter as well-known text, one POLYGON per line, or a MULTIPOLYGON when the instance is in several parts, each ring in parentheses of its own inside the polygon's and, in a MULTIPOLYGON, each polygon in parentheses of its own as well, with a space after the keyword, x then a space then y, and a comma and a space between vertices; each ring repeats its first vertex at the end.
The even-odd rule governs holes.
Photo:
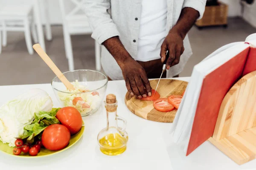
POLYGON ((177 76, 192 55, 187 33, 206 1, 85 0, 92 37, 105 47, 102 68, 109 79, 125 79, 132 96, 151 96, 148 79, 160 77, 167 51, 167 76, 177 76))

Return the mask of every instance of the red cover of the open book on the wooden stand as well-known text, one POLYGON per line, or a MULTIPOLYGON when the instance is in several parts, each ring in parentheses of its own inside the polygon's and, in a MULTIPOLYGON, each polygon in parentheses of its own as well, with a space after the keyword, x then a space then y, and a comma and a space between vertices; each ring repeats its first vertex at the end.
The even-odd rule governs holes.
POLYGON ((246 62, 249 60, 256 62, 255 57, 247 59, 249 50, 250 47, 241 51, 204 78, 186 156, 213 135, 218 111, 224 96, 239 80, 243 71, 245 73, 247 70, 251 70, 252 66, 249 63, 247 63, 247 69, 244 69, 246 62))

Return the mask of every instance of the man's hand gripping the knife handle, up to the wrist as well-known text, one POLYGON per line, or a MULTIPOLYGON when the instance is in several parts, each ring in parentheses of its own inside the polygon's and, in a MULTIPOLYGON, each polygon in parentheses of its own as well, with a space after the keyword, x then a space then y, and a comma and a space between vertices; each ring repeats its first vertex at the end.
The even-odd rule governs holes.
POLYGON ((174 29, 169 31, 169 34, 161 45, 160 57, 162 62, 166 59, 167 51, 169 51, 169 58, 166 62, 166 69, 169 70, 170 67, 180 62, 180 56, 184 52, 183 37, 174 29))

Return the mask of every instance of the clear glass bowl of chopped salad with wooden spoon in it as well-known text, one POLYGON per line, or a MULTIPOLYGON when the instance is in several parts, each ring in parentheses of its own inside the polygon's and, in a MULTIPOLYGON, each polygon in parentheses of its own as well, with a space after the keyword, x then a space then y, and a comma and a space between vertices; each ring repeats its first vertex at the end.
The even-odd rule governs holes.
POLYGON ((76 90, 67 90, 58 77, 52 79, 52 89, 61 106, 77 108, 81 116, 95 113, 105 97, 108 78, 93 70, 75 70, 63 74, 76 90))

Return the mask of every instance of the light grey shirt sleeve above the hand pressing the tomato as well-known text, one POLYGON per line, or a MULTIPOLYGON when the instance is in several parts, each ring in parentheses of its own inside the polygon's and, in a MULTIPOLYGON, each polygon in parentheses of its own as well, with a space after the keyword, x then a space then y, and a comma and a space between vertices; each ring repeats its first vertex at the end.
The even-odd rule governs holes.
POLYGON ((91 37, 100 45, 111 37, 120 36, 108 13, 110 7, 110 0, 85 0, 84 3, 84 12, 93 31, 91 37))

